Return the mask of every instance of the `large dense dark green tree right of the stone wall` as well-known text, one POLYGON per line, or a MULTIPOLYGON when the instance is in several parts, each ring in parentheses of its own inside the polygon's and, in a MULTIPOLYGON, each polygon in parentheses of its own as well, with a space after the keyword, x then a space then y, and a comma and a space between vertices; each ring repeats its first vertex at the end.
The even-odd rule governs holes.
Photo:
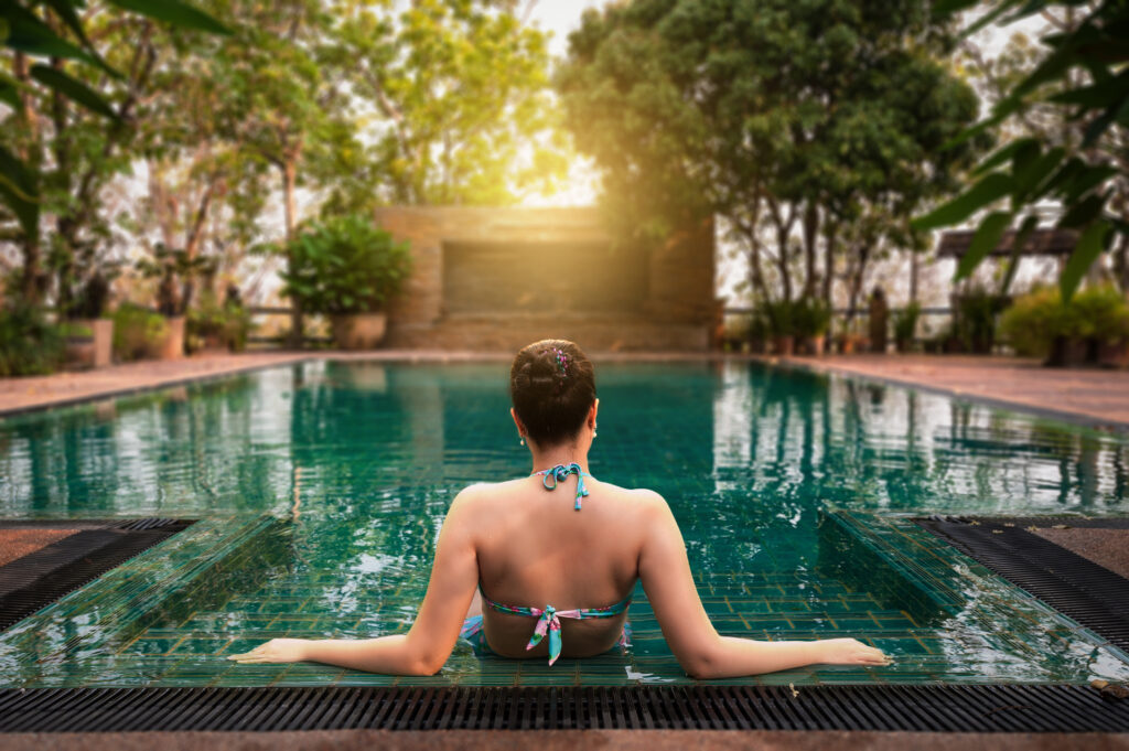
POLYGON ((919 248, 909 218, 979 142, 929 3, 634 0, 585 15, 557 79, 566 124, 630 234, 716 213, 761 299, 832 297, 850 262, 919 248), (822 263, 821 263, 822 260, 822 263))

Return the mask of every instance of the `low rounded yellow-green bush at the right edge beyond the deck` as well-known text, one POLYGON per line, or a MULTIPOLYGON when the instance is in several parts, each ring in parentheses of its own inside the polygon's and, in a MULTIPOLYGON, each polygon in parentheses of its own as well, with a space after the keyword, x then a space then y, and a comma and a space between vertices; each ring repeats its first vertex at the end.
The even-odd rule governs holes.
POLYGON ((1129 305, 1111 286, 1083 289, 1068 304, 1059 289, 1040 287, 1016 298, 999 325, 1017 353, 1044 358, 1058 337, 1101 341, 1129 337, 1129 305))

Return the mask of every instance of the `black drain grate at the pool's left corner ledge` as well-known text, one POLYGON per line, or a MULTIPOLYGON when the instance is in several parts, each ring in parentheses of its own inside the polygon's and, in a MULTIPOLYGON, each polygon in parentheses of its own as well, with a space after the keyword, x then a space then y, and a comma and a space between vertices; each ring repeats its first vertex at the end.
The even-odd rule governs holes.
POLYGON ((79 530, 0 566, 0 630, 50 605, 190 524, 191 521, 169 518, 0 522, 0 529, 79 530))

